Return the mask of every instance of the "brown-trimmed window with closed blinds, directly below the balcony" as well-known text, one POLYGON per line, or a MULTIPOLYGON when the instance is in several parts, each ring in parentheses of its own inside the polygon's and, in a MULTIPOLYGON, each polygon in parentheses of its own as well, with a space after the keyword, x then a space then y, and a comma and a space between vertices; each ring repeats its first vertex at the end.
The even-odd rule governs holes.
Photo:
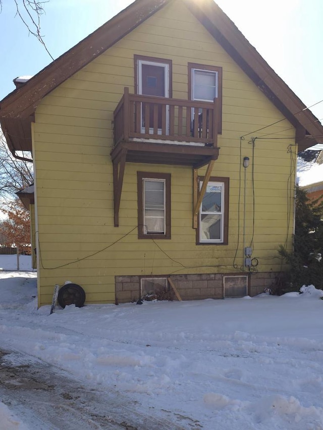
POLYGON ((171 174, 137 172, 138 238, 171 238, 171 174))

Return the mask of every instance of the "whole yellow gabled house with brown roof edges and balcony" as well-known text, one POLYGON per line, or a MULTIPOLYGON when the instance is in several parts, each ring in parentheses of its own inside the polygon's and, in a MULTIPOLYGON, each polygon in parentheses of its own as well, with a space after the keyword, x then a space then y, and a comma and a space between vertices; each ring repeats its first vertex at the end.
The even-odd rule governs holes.
POLYGON ((212 0, 137 0, 23 83, 0 121, 34 163, 39 306, 56 284, 66 304, 69 283, 86 303, 274 285, 297 151, 322 141, 305 107, 212 0))

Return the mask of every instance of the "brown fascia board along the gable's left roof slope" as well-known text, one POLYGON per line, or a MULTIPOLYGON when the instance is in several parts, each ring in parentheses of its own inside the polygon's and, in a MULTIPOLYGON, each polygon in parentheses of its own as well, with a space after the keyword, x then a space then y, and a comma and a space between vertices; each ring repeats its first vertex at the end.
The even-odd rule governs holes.
POLYGON ((78 72, 106 49, 131 32, 170 0, 136 0, 103 24, 57 60, 42 69, 26 84, 0 101, 0 117, 31 115, 38 102, 58 85, 78 72))

